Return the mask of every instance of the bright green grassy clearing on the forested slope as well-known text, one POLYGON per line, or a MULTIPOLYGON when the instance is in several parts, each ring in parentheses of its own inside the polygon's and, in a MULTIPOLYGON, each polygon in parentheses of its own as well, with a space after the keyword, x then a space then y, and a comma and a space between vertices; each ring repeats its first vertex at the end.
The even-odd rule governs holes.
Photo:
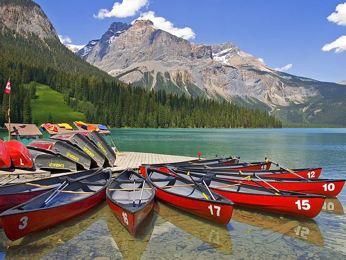
POLYGON ((85 121, 86 117, 83 113, 74 111, 64 102, 64 97, 60 93, 50 89, 43 84, 36 84, 37 99, 31 100, 31 109, 33 114, 33 122, 39 125, 47 123, 49 112, 52 115, 53 122, 49 123, 69 123, 73 125, 73 121, 85 121))

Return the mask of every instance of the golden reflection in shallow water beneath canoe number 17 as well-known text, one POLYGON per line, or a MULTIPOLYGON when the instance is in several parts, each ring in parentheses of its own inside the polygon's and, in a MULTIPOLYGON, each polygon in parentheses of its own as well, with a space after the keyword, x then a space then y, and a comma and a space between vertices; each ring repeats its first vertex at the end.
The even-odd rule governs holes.
POLYGON ((155 210, 163 219, 202 240, 210 247, 227 255, 232 254, 232 241, 226 226, 196 217, 161 201, 158 202, 158 207, 155 207, 155 210))

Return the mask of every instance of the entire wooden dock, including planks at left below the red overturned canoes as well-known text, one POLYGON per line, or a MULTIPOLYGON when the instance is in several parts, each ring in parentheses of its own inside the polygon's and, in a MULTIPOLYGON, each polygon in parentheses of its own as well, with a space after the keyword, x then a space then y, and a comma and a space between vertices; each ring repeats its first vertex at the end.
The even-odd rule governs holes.
MULTIPOLYGON (((121 152, 117 155, 115 164, 113 167, 110 167, 112 171, 120 172, 126 168, 138 168, 140 164, 147 163, 167 163, 167 162, 178 162, 185 160, 194 160, 198 159, 197 157, 190 156, 173 156, 173 155, 160 155, 160 154, 151 154, 151 153, 138 153, 138 152, 121 152)), ((0 179, 4 178, 10 174, 10 178, 15 178, 19 175, 19 179, 13 180, 11 183, 17 182, 27 182, 38 179, 48 178, 50 176, 59 176, 64 175, 64 173, 54 173, 51 174, 49 171, 44 170, 24 170, 24 169, 2 169, 0 170, 0 179)), ((8 181, 9 178, 6 178, 0 182, 0 184, 8 181)))

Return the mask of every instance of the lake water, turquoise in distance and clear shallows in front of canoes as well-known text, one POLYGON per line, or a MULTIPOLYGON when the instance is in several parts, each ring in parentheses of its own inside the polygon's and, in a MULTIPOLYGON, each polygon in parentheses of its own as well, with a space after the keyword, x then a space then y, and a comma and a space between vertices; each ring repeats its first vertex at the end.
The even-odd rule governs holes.
MULTIPOLYGON (((271 158, 291 168, 323 167, 346 178, 346 129, 112 129, 120 151, 271 158)), ((131 236, 103 203, 86 214, 10 242, 0 259, 346 259, 346 189, 313 219, 235 208, 227 226, 163 203, 131 236)))

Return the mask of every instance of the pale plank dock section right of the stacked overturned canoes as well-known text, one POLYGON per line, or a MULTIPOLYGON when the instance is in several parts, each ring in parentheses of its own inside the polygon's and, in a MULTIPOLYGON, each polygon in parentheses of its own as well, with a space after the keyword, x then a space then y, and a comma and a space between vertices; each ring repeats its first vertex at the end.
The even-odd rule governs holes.
POLYGON ((122 171, 129 167, 138 168, 140 164, 178 162, 194 159, 198 159, 198 157, 160 155, 138 152, 121 152, 120 155, 117 155, 114 167, 112 167, 111 169, 112 171, 122 171))

